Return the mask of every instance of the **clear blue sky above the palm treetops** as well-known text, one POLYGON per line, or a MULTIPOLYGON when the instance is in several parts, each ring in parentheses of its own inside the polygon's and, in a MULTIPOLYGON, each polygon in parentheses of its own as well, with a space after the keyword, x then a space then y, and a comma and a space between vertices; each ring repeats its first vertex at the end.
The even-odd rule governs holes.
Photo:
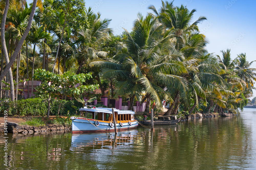
MULTIPOLYGON (((157 0, 130 0, 130 1, 108 1, 96 0, 87 1, 86 7, 92 7, 94 12, 100 12, 102 18, 112 19, 110 28, 113 28, 114 34, 121 34, 123 28, 131 31, 134 19, 137 13, 141 12, 144 16, 151 12, 147 7, 154 5, 156 9, 161 6, 161 1, 157 0)), ((175 0, 174 5, 186 5, 189 10, 196 9, 194 20, 200 16, 207 17, 207 21, 199 24, 202 33, 209 40, 207 49, 209 53, 220 55, 220 50, 231 48, 232 58, 237 54, 246 53, 249 61, 256 60, 254 56, 255 1, 241 0, 175 0)), ((254 64, 256 67, 256 62, 254 64)))

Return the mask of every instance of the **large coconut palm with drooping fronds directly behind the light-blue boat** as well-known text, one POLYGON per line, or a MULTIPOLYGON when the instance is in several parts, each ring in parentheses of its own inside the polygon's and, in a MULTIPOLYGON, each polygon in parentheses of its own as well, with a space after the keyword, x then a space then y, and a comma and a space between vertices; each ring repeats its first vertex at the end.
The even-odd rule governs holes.
POLYGON ((117 95, 130 96, 130 110, 135 96, 141 100, 142 93, 146 93, 161 107, 158 93, 165 93, 171 99, 162 86, 186 90, 186 80, 177 76, 186 73, 186 68, 178 62, 163 60, 165 53, 169 53, 166 47, 172 34, 162 33, 163 26, 157 18, 151 15, 144 18, 138 14, 132 34, 127 30, 124 32, 127 39, 124 40, 122 50, 108 61, 95 60, 91 63, 103 68, 103 77, 117 80, 117 95), (170 74, 173 72, 175 74, 170 74))

